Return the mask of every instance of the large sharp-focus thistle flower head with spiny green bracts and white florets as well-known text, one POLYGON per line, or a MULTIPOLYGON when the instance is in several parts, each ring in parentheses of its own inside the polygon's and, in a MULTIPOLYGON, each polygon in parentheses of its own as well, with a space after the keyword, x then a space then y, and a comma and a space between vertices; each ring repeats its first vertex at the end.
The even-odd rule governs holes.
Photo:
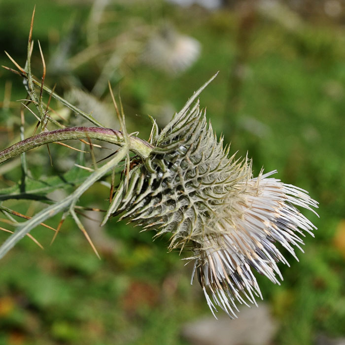
POLYGON ((127 187, 120 184, 113 203, 121 218, 156 236, 171 234, 170 249, 189 247, 209 308, 235 317, 236 300, 261 297, 253 269, 279 283, 277 262, 288 262, 278 246, 297 259, 301 236, 316 228, 296 207, 317 203, 271 177, 276 171, 253 177, 247 157, 229 157, 199 100, 192 105, 202 89, 154 138, 151 155, 130 172, 127 187))

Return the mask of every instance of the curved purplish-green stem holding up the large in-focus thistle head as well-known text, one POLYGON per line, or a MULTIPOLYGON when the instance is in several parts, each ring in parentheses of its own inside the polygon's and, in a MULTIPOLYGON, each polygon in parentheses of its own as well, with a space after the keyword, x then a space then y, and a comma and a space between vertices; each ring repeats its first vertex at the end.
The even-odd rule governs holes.
MULTIPOLYGON (((0 151, 0 163, 16 157, 34 147, 48 144, 54 141, 70 139, 98 139, 119 146, 125 144, 123 133, 110 128, 101 127, 72 127, 63 128, 55 131, 42 132, 36 136, 18 141, 14 145, 0 151)), ((153 146, 147 141, 137 137, 130 136, 129 149, 138 154, 141 158, 147 158, 153 149, 153 146)))

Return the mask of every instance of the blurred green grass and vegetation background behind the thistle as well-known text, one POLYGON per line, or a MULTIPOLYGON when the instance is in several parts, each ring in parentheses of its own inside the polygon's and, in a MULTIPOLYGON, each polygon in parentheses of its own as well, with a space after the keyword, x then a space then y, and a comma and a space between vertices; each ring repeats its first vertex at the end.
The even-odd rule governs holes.
MULTIPOLYGON (((313 344, 320 334, 345 336, 345 16, 332 17, 326 4, 310 12, 279 12, 265 3, 241 1, 209 12, 159 0, 108 1, 100 12, 88 1, 36 0, 33 38, 45 55, 47 85, 57 83, 65 96, 75 88, 91 92, 106 107, 103 82, 110 79, 120 90, 129 132, 139 131, 141 138, 150 133, 147 114, 164 125, 220 71, 201 96, 217 134, 239 156, 248 151, 254 174, 262 166, 277 169, 278 178, 320 203, 320 219, 308 214, 319 229, 315 239, 306 238, 299 263, 290 258, 290 268, 280 265, 282 285, 258 277, 279 322, 276 344, 313 344), (142 62, 145 42, 167 23, 201 44, 199 59, 184 72, 169 74, 142 62)), ((0 46, 22 66, 33 7, 32 1, 0 3, 0 46)), ((0 63, 11 65, 4 54, 0 63)), ((39 77, 38 49, 33 68, 39 77)), ((20 77, 4 69, 0 77, 2 149, 19 138, 15 101, 26 95, 20 77)), ((80 106, 92 104, 90 97, 80 106)), ((73 123, 66 109, 52 105, 73 123)), ((84 110, 96 108, 89 106, 84 110)), ((101 107, 94 116, 104 113, 101 107)), ((35 119, 25 116, 31 135, 35 119)), ((112 123, 111 116, 106 112, 101 122, 112 123)), ((33 176, 69 169, 69 155, 75 154, 50 148, 53 167, 45 147, 28 154, 33 176)), ((1 165, 1 187, 20 173, 18 160, 1 165)), ((82 202, 102 208, 107 196, 97 184, 82 202)), ((34 201, 6 203, 13 205, 29 216, 40 208, 34 201)), ((49 222, 58 223, 58 217, 49 222)), ((182 325, 209 314, 198 282, 189 285, 191 267, 183 266, 178 252, 167 253, 164 240, 152 242, 152 233, 115 220, 101 232, 97 224, 88 227, 97 228, 93 239, 102 261, 69 219, 51 246, 48 229, 32 232, 44 251, 25 238, 0 261, 0 344, 187 344, 182 325)), ((2 215, 0 226, 10 228, 2 215)), ((1 241, 7 236, 0 233, 1 241)))

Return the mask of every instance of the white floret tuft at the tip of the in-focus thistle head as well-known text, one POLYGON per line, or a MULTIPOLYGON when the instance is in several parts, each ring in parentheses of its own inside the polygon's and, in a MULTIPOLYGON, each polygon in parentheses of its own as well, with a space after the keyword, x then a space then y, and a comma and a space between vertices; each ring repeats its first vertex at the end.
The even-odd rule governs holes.
POLYGON ((242 200, 232 205, 238 210, 237 215, 224 210, 225 222, 219 221, 219 224, 228 223, 224 231, 220 230, 219 236, 205 236, 204 245, 196 251, 193 276, 197 271, 212 312, 218 305, 229 316, 236 317, 235 299, 256 304, 255 296, 262 298, 262 295, 251 268, 280 284, 277 276, 283 278, 276 263, 280 261, 288 266, 289 263, 276 243, 298 261, 293 246, 303 252, 300 236, 305 236, 304 232, 313 236, 311 231, 316 227, 293 205, 311 209, 310 206, 317 207, 316 202, 300 188, 268 178, 274 173, 241 182, 240 188, 245 184, 242 200))

